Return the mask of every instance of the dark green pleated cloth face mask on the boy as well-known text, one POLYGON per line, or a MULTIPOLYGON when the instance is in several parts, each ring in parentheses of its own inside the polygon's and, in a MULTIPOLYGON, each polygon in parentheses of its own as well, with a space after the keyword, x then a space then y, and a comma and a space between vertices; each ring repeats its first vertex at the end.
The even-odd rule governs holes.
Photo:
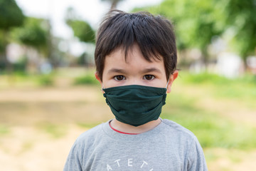
POLYGON ((134 126, 157 120, 166 100, 166 88, 131 85, 102 90, 115 118, 134 126))

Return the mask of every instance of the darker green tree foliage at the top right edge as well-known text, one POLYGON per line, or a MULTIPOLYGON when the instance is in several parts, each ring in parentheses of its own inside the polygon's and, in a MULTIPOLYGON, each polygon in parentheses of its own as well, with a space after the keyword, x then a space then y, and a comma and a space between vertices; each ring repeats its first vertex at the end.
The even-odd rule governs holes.
POLYGON ((229 0, 225 6, 225 23, 233 31, 233 47, 245 60, 256 55, 256 1, 229 0))

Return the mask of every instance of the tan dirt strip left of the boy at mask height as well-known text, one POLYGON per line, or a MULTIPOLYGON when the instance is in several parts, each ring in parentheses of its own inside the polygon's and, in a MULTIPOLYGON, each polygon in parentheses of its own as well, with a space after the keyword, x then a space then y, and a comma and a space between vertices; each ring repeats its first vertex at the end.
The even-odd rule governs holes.
POLYGON ((0 123, 101 123, 112 118, 98 87, 0 91, 0 123), (95 113, 97 113, 95 115, 95 113))

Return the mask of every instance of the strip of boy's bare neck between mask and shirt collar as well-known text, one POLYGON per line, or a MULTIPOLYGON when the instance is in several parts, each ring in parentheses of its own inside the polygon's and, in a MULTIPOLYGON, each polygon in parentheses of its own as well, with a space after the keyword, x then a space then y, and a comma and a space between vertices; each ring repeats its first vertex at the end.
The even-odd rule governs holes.
POLYGON ((158 118, 157 120, 152 120, 149 123, 145 123, 144 125, 135 127, 126 123, 121 123, 120 121, 114 118, 111 121, 110 125, 115 130, 119 130, 120 132, 123 132, 123 133, 139 134, 139 133, 145 133, 146 131, 156 128, 156 126, 159 125, 160 123, 161 123, 161 119, 158 118))

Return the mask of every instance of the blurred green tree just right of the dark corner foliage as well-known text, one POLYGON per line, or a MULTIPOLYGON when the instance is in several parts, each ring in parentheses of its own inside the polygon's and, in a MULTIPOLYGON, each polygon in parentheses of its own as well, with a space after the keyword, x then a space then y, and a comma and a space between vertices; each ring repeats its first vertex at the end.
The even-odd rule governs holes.
POLYGON ((60 63, 63 54, 56 46, 60 40, 52 36, 50 22, 47 19, 26 17, 23 27, 14 28, 11 37, 18 43, 35 48, 53 67, 60 63))

